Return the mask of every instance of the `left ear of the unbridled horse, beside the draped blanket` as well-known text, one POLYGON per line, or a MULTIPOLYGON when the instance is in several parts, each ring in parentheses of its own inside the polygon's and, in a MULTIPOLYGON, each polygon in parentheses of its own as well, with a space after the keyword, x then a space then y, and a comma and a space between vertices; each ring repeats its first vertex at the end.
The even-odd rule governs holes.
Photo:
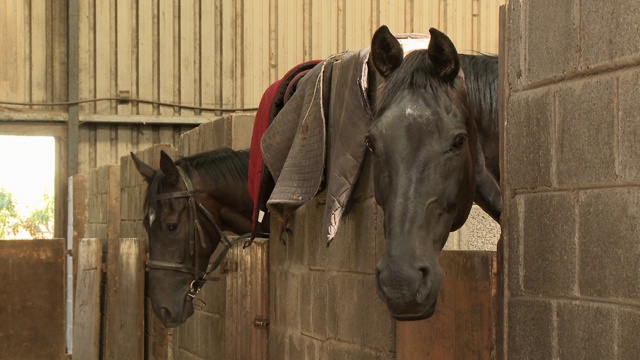
POLYGON ((404 51, 398 39, 396 39, 386 25, 382 25, 373 34, 371 39, 371 60, 373 66, 382 77, 388 77, 393 73, 404 58, 404 51))

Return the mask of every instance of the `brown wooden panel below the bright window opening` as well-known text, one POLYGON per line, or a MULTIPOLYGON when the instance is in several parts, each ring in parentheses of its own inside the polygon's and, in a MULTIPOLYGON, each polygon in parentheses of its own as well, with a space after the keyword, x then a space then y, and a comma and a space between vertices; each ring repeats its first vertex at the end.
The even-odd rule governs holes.
POLYGON ((64 359, 65 256, 64 239, 0 241, 0 358, 64 359))

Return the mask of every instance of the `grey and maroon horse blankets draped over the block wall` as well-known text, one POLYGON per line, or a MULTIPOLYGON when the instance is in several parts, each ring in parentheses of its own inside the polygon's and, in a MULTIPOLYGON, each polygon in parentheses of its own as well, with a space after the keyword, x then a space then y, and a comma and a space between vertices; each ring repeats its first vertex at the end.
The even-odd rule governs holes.
MULTIPOLYGON (((397 37, 405 56, 428 46, 423 34, 397 37)), ((264 163, 254 211, 268 210, 286 227, 296 209, 326 189, 321 236, 327 245, 338 231, 366 154, 364 136, 374 115, 367 96, 368 59, 369 48, 363 48, 294 67, 263 96, 267 103, 274 92, 283 99, 269 108, 268 125, 258 125, 261 101, 256 118, 261 127, 254 126, 250 161, 264 163), (254 150, 258 142, 260 149, 254 150), (254 160, 258 152, 262 156, 254 160)))

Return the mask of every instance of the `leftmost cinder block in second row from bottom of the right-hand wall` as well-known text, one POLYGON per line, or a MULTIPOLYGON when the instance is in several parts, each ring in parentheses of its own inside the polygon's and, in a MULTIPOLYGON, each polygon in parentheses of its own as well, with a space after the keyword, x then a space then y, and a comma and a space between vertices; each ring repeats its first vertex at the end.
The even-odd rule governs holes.
POLYGON ((576 200, 571 193, 524 197, 523 287, 546 294, 576 288, 576 200))

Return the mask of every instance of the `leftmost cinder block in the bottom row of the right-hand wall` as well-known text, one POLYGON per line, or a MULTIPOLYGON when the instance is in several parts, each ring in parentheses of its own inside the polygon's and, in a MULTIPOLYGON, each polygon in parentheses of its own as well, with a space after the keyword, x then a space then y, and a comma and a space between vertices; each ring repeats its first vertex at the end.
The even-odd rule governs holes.
POLYGON ((551 302, 532 298, 511 298, 507 306, 508 358, 552 359, 554 311, 551 302))

